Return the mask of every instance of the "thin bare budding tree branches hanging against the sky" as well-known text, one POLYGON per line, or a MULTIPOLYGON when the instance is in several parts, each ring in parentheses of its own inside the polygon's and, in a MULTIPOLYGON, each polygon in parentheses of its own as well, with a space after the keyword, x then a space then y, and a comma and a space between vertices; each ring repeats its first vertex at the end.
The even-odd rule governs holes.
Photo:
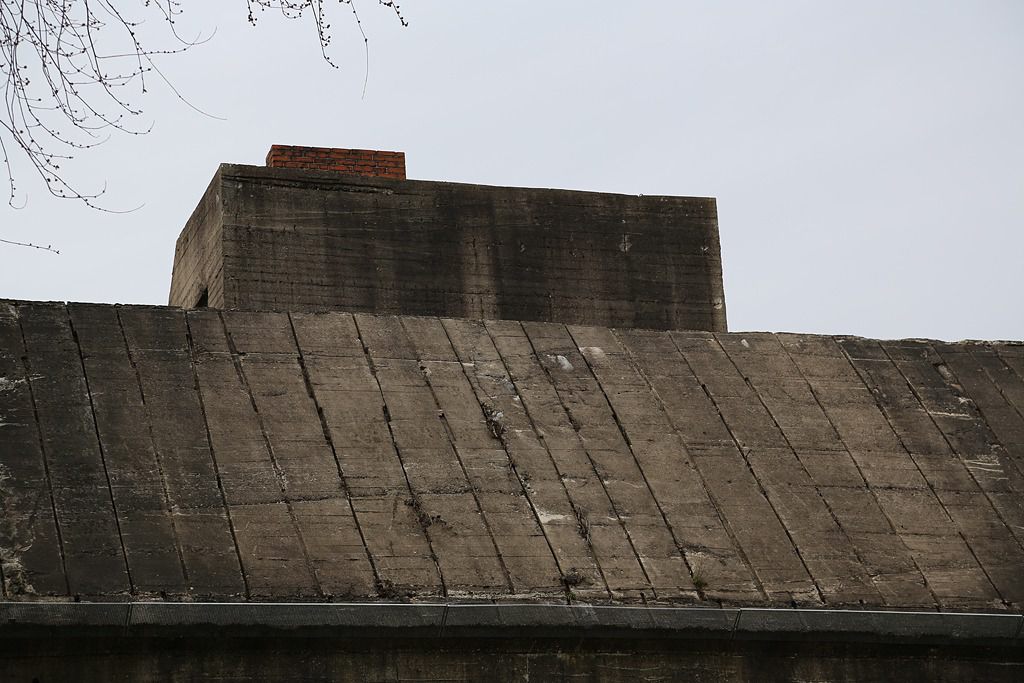
MULTIPOLYGON (((367 42, 355 1, 245 0, 248 20, 254 26, 266 10, 288 19, 308 18, 323 58, 333 67, 337 65, 330 52, 330 19, 334 12, 344 11, 343 5, 348 6, 367 42)), ((177 19, 185 2, 0 0, 0 162, 7 175, 10 206, 19 206, 11 155, 20 154, 54 197, 109 210, 98 203, 105 188, 86 191, 73 185, 61 165, 112 134, 148 132, 150 127, 137 126, 142 110, 136 102, 146 93, 154 75, 193 106, 156 65, 158 57, 182 52, 206 40, 189 40, 178 33, 177 19), (168 45, 155 48, 143 44, 140 27, 152 17, 167 28, 168 45)), ((396 2, 377 0, 377 5, 391 10, 407 26, 396 2)), ((369 52, 367 65, 369 78, 369 52)))

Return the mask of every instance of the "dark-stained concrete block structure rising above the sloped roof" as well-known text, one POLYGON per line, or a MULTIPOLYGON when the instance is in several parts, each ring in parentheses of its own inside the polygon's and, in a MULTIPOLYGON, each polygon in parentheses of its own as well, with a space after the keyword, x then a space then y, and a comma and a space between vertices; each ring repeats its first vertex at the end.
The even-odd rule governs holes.
POLYGON ((720 252, 713 199, 223 165, 170 303, 722 332, 720 252))

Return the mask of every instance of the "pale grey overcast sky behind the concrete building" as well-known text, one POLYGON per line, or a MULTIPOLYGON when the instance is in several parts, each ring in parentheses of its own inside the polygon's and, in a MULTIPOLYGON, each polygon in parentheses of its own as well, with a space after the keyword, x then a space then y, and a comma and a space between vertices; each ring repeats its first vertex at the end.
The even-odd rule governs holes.
POLYGON ((1024 2, 355 0, 333 70, 307 23, 246 23, 160 61, 145 136, 69 176, 24 165, 0 208, 0 297, 165 303, 174 241, 218 163, 271 143, 399 150, 413 178, 718 198, 731 330, 1024 339, 1024 2), (25 199, 23 197, 23 199, 25 199))

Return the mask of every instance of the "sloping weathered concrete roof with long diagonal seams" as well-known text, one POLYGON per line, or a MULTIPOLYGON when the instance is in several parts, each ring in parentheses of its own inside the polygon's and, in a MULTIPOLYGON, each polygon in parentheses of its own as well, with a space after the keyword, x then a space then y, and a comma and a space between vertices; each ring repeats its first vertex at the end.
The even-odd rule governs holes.
POLYGON ((9 600, 1019 611, 1024 346, 0 302, 9 600))

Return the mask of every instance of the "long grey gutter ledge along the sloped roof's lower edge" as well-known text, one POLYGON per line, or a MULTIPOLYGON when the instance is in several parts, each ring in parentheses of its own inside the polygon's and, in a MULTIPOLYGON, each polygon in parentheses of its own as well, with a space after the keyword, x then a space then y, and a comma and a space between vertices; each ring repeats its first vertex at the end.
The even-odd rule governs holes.
POLYGON ((0 603, 0 637, 714 639, 1024 646, 1024 615, 545 604, 0 603))

